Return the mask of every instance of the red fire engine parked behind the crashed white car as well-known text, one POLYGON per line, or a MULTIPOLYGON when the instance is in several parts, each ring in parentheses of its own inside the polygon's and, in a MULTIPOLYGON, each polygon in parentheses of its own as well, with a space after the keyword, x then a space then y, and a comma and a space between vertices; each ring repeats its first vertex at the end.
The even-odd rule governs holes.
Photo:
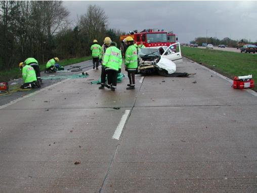
POLYGON ((153 29, 144 29, 141 32, 131 32, 129 35, 120 35, 120 45, 121 45, 121 52, 124 53, 124 44, 123 40, 127 36, 131 36, 137 45, 142 44, 145 47, 154 47, 154 46, 170 46, 176 43, 178 37, 173 32, 167 32, 163 30, 154 31, 153 29), (133 33, 133 34, 132 34, 133 33))

